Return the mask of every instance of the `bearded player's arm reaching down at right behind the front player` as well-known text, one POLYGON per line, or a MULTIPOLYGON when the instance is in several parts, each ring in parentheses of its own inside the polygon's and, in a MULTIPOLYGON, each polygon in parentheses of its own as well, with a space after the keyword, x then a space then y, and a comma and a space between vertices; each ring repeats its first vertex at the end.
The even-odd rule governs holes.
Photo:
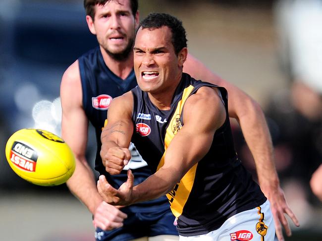
POLYGON ((188 55, 183 71, 195 79, 223 86, 228 91, 229 117, 235 118, 242 129, 246 143, 253 155, 262 191, 268 198, 274 216, 276 235, 283 241, 282 228, 291 235, 284 213, 290 216, 296 226, 299 222, 285 201, 274 165, 273 146, 268 125, 260 105, 249 95, 228 81, 222 80, 193 56, 188 55))

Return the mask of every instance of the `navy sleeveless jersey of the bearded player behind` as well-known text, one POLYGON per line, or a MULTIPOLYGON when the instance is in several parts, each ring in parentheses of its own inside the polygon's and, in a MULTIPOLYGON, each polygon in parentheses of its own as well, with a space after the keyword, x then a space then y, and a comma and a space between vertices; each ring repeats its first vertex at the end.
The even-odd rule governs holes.
MULTIPOLYGON (((131 144, 132 159, 119 175, 110 175, 106 172, 100 156, 101 133, 107 119, 107 110, 113 98, 124 94, 137 85, 134 70, 122 80, 112 73, 106 66, 99 47, 90 50, 78 58, 79 70, 83 90, 83 108, 87 118, 96 131, 97 153, 95 169, 100 175, 105 175, 107 181, 118 188, 127 180, 127 169, 131 169, 135 176, 135 183, 144 181, 151 175, 151 170, 131 144)), ((158 200, 137 203, 122 209, 123 212, 150 212, 168 209, 166 197, 158 200)))

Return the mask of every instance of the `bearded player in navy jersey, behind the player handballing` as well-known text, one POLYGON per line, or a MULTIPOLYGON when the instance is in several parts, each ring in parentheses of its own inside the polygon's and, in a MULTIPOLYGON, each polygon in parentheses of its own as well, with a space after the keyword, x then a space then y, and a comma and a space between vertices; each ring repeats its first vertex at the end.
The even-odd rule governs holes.
MULTIPOLYGON (((65 71, 61 81, 62 137, 76 157, 76 170, 67 186, 93 214, 97 240, 177 239, 172 225, 174 217, 165 197, 119 208, 107 204, 98 193, 94 173, 85 158, 88 121, 96 129, 98 150, 95 168, 107 177, 113 187, 118 188, 127 178, 126 170, 119 169, 116 176, 106 172, 100 158, 100 136, 112 99, 137 84, 132 47, 139 13, 137 0, 84 0, 84 7, 88 27, 97 36, 99 47, 79 57, 65 71)), ((228 90, 229 115, 239 121, 257 171, 261 173, 259 181, 272 205, 277 235, 282 235, 279 220, 289 234, 284 212, 290 214, 290 210, 279 188, 270 135, 259 104, 234 85, 215 76, 191 55, 188 55, 183 69, 196 79, 208 80, 228 90)), ((131 151, 132 159, 125 169, 132 169, 135 180, 143 181, 151 174, 150 169, 135 147, 131 146, 131 151)))

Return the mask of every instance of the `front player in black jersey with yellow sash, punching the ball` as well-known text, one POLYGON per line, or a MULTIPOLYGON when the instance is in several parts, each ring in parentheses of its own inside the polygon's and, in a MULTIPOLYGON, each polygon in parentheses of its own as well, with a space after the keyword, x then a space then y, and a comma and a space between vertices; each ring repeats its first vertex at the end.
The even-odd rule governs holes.
POLYGON ((101 136, 107 172, 128 163, 130 141, 154 173, 118 189, 104 175, 106 202, 130 205, 166 195, 182 240, 274 240, 270 204, 234 151, 225 88, 182 72, 185 30, 168 14, 145 18, 134 44, 137 87, 115 98, 101 136))

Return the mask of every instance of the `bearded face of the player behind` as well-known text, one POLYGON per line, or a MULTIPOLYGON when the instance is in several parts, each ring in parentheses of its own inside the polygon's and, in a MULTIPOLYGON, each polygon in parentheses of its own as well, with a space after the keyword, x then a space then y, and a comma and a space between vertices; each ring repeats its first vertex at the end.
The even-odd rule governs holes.
POLYGON ((110 0, 95 6, 95 19, 86 16, 92 34, 103 49, 115 59, 126 58, 132 51, 138 12, 133 15, 129 0, 110 0))

